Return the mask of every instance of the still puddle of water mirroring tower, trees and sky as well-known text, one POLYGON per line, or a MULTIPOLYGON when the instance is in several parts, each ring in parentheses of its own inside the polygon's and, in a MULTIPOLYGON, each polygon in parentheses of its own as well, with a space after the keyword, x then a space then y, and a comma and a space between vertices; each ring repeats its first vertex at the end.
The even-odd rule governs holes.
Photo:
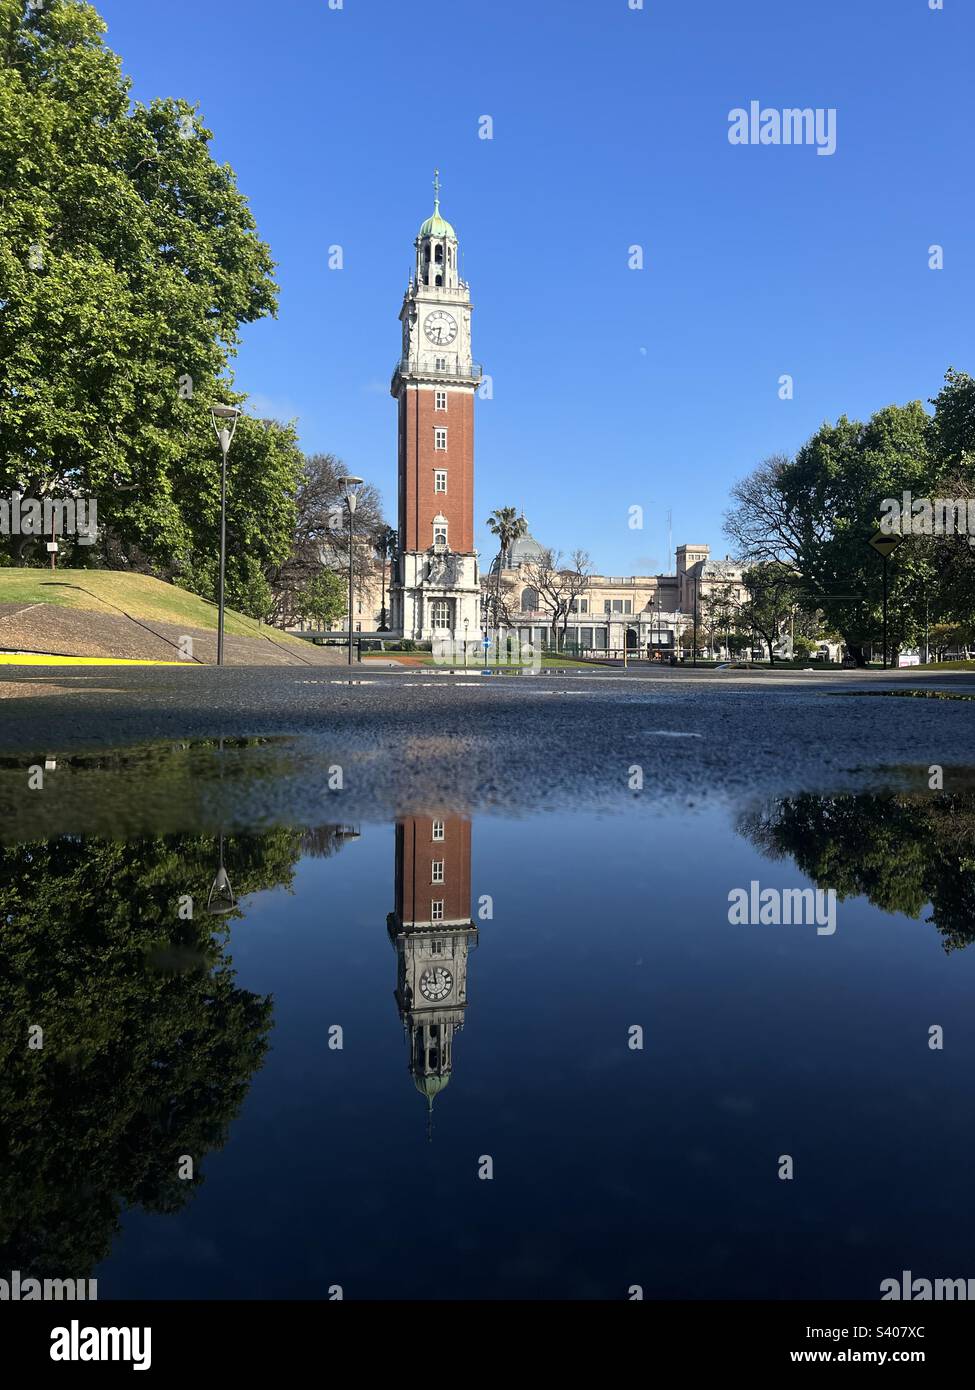
POLYGON ((0 1272, 438 1300, 975 1275, 971 794, 249 831, 174 830, 170 792, 160 833, 140 805, 131 835, 117 802, 113 834, 4 826, 0 1272), (836 890, 836 930, 732 924, 752 881, 836 890))

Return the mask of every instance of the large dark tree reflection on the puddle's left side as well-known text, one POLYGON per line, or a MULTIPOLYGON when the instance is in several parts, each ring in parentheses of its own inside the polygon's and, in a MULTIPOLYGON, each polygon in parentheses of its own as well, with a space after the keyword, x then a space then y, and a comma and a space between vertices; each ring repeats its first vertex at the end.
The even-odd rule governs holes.
MULTIPOLYGON (((238 898, 291 883, 299 838, 228 837, 238 898)), ((204 912, 216 860, 209 835, 0 851, 0 1269, 86 1277, 124 1207, 175 1211, 225 1141, 271 1001, 238 988, 232 917, 204 912)))

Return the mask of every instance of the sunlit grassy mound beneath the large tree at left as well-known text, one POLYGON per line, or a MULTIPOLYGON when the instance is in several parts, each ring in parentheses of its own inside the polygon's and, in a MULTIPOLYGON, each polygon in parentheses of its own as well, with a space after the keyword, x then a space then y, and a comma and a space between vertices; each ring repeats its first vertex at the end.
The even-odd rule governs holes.
MULTIPOLYGON (((4 570, 0 569, 0 603, 56 603, 61 607, 89 609, 97 613, 121 610, 143 623, 177 623, 184 627, 217 628, 217 605, 178 589, 174 584, 147 574, 124 574, 118 570, 4 570)), ((252 617, 225 612, 225 631, 235 637, 260 637, 273 632, 285 645, 299 638, 267 628, 252 617)))

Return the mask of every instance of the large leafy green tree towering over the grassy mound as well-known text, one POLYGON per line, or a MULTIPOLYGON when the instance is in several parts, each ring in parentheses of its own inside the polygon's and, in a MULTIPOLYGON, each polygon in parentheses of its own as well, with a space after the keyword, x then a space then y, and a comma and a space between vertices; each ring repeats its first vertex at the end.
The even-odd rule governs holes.
MULTIPOLYGON (((96 559, 210 594, 209 406, 241 403, 228 363, 274 313, 273 263, 199 113, 132 104, 103 33, 83 0, 0 0, 0 488, 95 496, 96 559)), ((261 567, 295 468, 293 434, 241 427, 229 528, 261 567)))

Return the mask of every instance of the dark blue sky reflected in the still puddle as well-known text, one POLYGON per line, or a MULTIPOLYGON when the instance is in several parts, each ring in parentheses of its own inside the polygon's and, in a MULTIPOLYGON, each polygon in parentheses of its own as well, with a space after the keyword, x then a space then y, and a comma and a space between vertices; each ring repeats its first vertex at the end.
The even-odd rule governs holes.
POLYGON ((833 937, 732 927, 752 877, 805 883, 719 812, 477 819, 494 920, 427 1144, 392 827, 303 860, 234 927, 238 983, 274 995, 264 1069, 188 1208, 125 1218, 102 1297, 875 1298, 904 1268, 967 1277, 944 1168, 971 1152, 975 948, 946 956, 862 899, 833 937))

